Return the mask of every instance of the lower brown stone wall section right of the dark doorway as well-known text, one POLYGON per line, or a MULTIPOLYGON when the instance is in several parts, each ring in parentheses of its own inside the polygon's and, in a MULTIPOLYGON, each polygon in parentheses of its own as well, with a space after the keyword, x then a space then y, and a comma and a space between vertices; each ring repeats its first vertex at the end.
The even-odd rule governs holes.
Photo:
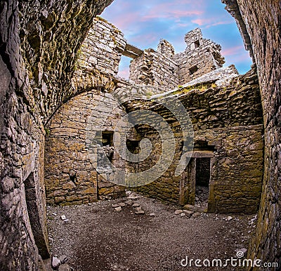
MULTIPOLYGON (((216 150, 211 161, 209 211, 256 213, 263 178, 263 126, 196 131, 197 141, 216 150)), ((188 187, 191 190, 192 183, 188 187)))

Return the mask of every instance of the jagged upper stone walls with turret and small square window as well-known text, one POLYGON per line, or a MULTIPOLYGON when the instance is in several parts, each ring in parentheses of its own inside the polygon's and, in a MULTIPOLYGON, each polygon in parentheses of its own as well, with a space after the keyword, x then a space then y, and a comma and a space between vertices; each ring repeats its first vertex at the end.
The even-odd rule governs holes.
POLYGON ((176 55, 166 40, 159 42, 157 51, 145 50, 131 62, 129 78, 136 84, 163 86, 168 90, 223 67, 221 46, 203 39, 201 29, 188 32, 185 42, 185 51, 176 55))

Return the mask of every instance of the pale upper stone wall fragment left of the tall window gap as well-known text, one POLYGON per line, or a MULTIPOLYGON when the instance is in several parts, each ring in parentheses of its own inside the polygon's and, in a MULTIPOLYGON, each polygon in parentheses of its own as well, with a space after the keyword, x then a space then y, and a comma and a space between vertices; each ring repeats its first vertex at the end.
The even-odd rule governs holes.
POLYGON ((81 70, 99 70, 117 74, 122 52, 126 47, 124 34, 103 18, 97 17, 79 51, 81 70))

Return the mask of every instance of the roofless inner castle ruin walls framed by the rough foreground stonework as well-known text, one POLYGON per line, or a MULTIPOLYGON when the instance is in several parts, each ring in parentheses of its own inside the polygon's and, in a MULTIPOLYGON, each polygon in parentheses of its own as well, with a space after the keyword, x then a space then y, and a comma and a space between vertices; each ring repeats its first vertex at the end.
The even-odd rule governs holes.
MULTIPOLYGON (((103 176, 96 170, 97 163, 107 167, 98 155, 105 152, 117 168, 148 170, 162 152, 162 140, 155 129, 138 126, 126 140, 133 153, 143 138, 158 146, 139 163, 122 159, 115 151, 113 137, 126 113, 152 109, 169 122, 176 135, 175 157, 160 178, 138 187, 138 192, 194 205, 197 187, 203 186, 207 188, 208 211, 256 213, 263 174, 262 109, 256 74, 251 70, 239 76, 234 66, 223 68, 221 46, 203 39, 200 29, 186 34, 185 42, 183 53, 175 54, 165 40, 160 41, 157 51, 142 51, 128 44, 124 34, 110 23, 102 18, 94 20, 81 46, 72 82, 81 94, 60 107, 47 126, 45 182, 49 204, 85 204, 124 195, 125 187, 111 182, 113 172, 103 176), (129 81, 117 77, 122 55, 132 58, 129 81), (98 89, 93 85, 97 71, 98 89), (133 95, 138 99, 124 98, 133 95), (181 176, 175 174, 183 153, 181 127, 171 112, 153 101, 155 95, 157 99, 176 97, 190 115, 195 148, 181 176), (96 164, 86 142, 91 122, 102 129, 101 144, 92 146, 98 157, 96 164)), ((150 118, 153 122, 149 115, 143 121, 150 118)))

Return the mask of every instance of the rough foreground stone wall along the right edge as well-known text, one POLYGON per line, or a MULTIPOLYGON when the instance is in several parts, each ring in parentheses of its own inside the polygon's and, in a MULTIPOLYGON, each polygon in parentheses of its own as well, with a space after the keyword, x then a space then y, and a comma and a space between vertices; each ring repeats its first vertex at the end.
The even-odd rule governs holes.
POLYGON ((251 242, 248 256, 260 258, 263 262, 277 262, 278 270, 281 266, 280 1, 226 0, 223 2, 237 19, 245 46, 253 51, 263 101, 266 146, 263 192, 256 237, 251 242))

